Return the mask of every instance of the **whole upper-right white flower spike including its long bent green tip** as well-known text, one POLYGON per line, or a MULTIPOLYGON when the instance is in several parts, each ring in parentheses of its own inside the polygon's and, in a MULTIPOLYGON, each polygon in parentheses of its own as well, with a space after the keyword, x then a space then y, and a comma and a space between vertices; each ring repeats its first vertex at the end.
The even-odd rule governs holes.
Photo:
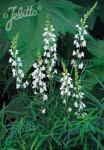
POLYGON ((82 58, 84 58, 85 53, 84 53, 84 48, 86 47, 86 40, 85 36, 88 34, 87 28, 88 26, 86 25, 86 21, 88 17, 91 15, 91 13, 94 11, 96 8, 97 3, 94 4, 94 6, 86 13, 84 14, 84 18, 81 18, 80 24, 76 25, 78 33, 75 35, 75 40, 74 40, 74 45, 75 45, 75 50, 73 50, 73 59, 71 61, 71 64, 75 66, 77 64, 78 69, 83 69, 84 64, 81 61, 82 58))

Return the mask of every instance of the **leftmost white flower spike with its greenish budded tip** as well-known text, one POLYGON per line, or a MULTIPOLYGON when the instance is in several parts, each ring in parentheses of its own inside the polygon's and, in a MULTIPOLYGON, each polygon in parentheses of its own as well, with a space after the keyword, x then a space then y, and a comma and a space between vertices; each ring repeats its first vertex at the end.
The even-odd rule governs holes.
POLYGON ((9 50, 10 52, 10 59, 9 63, 12 66, 12 73, 13 77, 16 78, 16 88, 26 88, 28 86, 28 81, 23 82, 24 79, 24 72, 22 69, 22 62, 20 57, 18 56, 18 50, 17 50, 17 41, 18 41, 18 36, 14 37, 11 45, 11 49, 9 50))

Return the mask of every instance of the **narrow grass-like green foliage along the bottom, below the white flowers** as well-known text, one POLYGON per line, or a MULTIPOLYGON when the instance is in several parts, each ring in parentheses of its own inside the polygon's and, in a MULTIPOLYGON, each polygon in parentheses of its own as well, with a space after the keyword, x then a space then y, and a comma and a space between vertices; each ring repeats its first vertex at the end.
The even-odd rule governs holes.
POLYGON ((5 122, 5 108, 0 113, 1 149, 104 149, 104 100, 99 101, 86 92, 88 116, 74 118, 66 114, 57 92, 51 92, 48 99, 50 107, 45 115, 37 110, 36 99, 26 98, 26 95, 22 97, 27 103, 22 118, 12 122, 13 119, 6 115, 5 122))

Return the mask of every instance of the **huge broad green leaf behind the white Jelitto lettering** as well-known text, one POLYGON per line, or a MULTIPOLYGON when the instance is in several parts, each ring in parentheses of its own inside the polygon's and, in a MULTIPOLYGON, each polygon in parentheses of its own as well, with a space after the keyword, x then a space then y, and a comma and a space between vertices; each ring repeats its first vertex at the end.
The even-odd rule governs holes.
POLYGON ((73 34, 75 32, 74 26, 80 20, 77 13, 80 7, 66 0, 40 0, 38 3, 35 3, 34 0, 2 0, 0 1, 1 24, 3 26, 6 24, 7 20, 2 19, 2 15, 7 11, 8 7, 21 6, 26 8, 28 5, 34 6, 34 9, 38 11, 37 15, 35 17, 13 21, 11 31, 6 33, 10 39, 12 39, 17 32, 20 33, 18 49, 20 50, 20 57, 23 60, 23 69, 25 72, 32 66, 36 58, 37 49, 43 46, 42 34, 47 14, 51 17, 57 35, 60 33, 64 34, 65 32, 73 34))

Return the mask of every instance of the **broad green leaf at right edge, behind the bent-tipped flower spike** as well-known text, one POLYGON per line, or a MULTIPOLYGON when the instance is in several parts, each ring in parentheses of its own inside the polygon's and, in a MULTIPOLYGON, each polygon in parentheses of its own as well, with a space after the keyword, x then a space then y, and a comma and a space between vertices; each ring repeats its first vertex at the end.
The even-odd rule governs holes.
POLYGON ((84 87, 91 90, 97 83, 104 81, 104 41, 89 39, 88 51, 94 56, 91 67, 85 72, 84 87))

